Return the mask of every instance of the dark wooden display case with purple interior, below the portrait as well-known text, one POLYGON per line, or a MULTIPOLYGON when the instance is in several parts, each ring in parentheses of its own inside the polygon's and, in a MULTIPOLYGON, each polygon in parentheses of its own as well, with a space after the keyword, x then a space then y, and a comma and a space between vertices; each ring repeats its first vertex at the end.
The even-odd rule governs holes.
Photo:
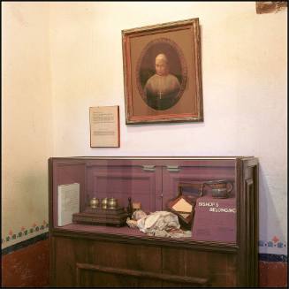
POLYGON ((255 157, 49 158, 51 286, 257 286, 258 161, 255 157), (80 212, 93 197, 128 197, 166 210, 179 183, 227 179, 228 199, 196 202, 192 237, 148 236, 128 226, 58 226, 57 188, 80 184, 80 212))

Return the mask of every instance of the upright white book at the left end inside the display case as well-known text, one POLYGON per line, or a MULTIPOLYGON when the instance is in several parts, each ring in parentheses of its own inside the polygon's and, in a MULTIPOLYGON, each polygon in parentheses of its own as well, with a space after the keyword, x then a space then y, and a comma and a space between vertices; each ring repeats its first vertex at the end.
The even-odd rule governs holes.
POLYGON ((58 186, 58 226, 72 223, 72 214, 80 212, 80 184, 58 186))

